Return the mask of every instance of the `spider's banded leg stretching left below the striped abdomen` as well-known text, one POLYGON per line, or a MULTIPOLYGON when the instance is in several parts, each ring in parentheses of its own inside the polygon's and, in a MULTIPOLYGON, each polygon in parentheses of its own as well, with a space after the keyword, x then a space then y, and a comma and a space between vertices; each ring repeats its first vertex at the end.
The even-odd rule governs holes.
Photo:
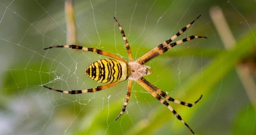
POLYGON ((65 93, 65 94, 80 94, 80 93, 87 93, 87 92, 95 92, 95 91, 101 91, 103 89, 106 89, 106 88, 109 88, 109 87, 112 87, 112 86, 115 86, 117 84, 119 84, 120 82, 114 82, 114 83, 111 83, 111 84, 106 84, 106 85, 103 85, 103 86, 98 86, 96 88, 91 88, 91 89, 82 89, 82 90, 71 90, 71 91, 65 91, 65 90, 59 90, 59 89, 54 89, 54 88, 50 88, 50 87, 47 87, 47 86, 44 86, 45 88, 48 88, 52 91, 58 91, 58 92, 62 92, 62 93, 65 93))

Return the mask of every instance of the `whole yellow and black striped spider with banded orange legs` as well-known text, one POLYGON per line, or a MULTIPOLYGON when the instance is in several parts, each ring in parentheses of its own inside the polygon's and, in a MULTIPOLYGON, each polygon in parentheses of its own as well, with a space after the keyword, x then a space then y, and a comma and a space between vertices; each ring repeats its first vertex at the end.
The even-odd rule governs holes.
POLYGON ((91 88, 91 89, 82 89, 82 90, 59 90, 59 89, 54 89, 50 88, 48 86, 44 86, 45 88, 48 88, 53 91, 58 91, 66 94, 79 94, 79 93, 87 93, 87 92, 95 92, 95 91, 101 91, 106 88, 115 86, 119 84, 120 82, 127 80, 128 79, 128 88, 127 88, 127 94, 126 94, 126 99, 125 102, 122 106, 121 112, 119 115, 115 118, 117 120, 125 111, 126 106, 128 104, 128 101, 130 99, 131 95, 131 88, 132 88, 132 81, 137 82, 139 85, 141 85, 144 89, 148 91, 153 97, 155 97, 157 100, 159 100, 162 104, 167 106, 167 108, 177 117, 178 120, 180 120, 183 124, 189 128, 189 130, 194 134, 193 130, 188 126, 188 124, 181 118, 181 116, 169 105, 168 101, 174 102, 176 104, 181 104, 183 106, 188 106, 192 107, 194 106, 201 98, 202 95, 199 97, 198 100, 196 100, 193 103, 187 103, 183 102, 177 99, 173 99, 172 97, 169 97, 164 91, 161 89, 157 88, 150 82, 148 82, 143 76, 145 75, 150 75, 150 66, 145 66, 148 61, 152 60, 153 58, 158 57, 159 55, 165 53, 168 49, 181 44, 183 42, 193 40, 195 38, 207 38, 205 36, 188 36, 187 38, 184 38, 182 40, 178 40, 176 42, 171 43, 175 38, 177 38, 179 35, 181 35, 184 31, 186 31, 187 28, 189 28, 201 15, 199 15, 195 20, 193 20, 191 23, 189 23, 186 27, 183 27, 178 33, 176 33, 174 36, 163 42, 162 44, 158 45, 142 57, 140 57, 137 60, 132 59, 132 54, 130 50, 130 46, 128 43, 128 40, 126 39, 126 36, 124 34, 124 31, 122 27, 120 26, 119 22, 117 19, 114 17, 115 23, 120 29, 122 38, 124 40, 124 44, 126 46, 126 51, 128 53, 128 58, 129 62, 124 60, 123 58, 114 55, 112 53, 108 53, 106 51, 102 51, 100 49, 95 49, 95 48, 88 48, 88 47, 83 47, 83 46, 77 46, 77 45, 62 45, 62 46, 50 46, 46 47, 45 49, 50 49, 50 48, 56 48, 56 47, 64 47, 64 48, 71 48, 71 49, 80 49, 84 51, 91 51, 94 53, 97 53, 99 55, 105 55, 111 58, 104 58, 101 60, 97 60, 96 62, 93 62, 91 65, 89 65, 85 69, 85 74, 101 83, 106 83, 105 85, 102 86, 97 86, 96 88, 91 88))

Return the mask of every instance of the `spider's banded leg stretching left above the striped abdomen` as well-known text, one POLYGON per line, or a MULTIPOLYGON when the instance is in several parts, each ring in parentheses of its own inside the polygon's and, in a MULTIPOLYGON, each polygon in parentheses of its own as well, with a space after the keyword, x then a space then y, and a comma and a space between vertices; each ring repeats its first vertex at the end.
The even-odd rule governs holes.
POLYGON ((79 50, 84 50, 84 51, 91 51, 93 53, 97 53, 99 55, 105 55, 105 56, 108 56, 108 57, 112 57, 112 58, 115 58, 117 60, 122 60, 124 62, 126 62, 126 60, 124 60, 123 58, 117 56, 117 55, 114 55, 112 53, 108 53, 106 51, 102 51, 100 49, 95 49, 95 48, 88 48, 88 47, 83 47, 83 46, 77 46, 77 45, 61 45, 61 46, 50 46, 50 47, 46 47, 44 48, 44 50, 46 49, 51 49, 51 48, 57 48, 57 47, 63 47, 63 48, 71 48, 71 49, 79 49, 79 50))

